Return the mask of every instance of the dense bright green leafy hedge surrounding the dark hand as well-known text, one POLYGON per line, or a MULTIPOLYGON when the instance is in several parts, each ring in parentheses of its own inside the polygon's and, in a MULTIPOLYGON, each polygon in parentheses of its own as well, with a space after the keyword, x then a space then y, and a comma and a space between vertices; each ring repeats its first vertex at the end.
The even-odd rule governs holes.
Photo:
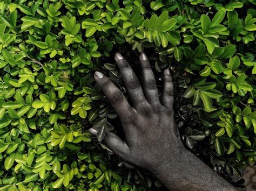
MULTIPOLYGON (((169 67, 186 147, 227 180, 255 161, 254 0, 0 2, 0 190, 163 190, 100 144, 122 136, 93 79, 119 51, 169 67), (87 129, 100 128, 97 138, 87 129), (113 126, 115 128, 113 128, 113 126), (97 140, 98 139, 98 140, 97 140)), ((140 77, 141 79, 141 77, 140 77)))

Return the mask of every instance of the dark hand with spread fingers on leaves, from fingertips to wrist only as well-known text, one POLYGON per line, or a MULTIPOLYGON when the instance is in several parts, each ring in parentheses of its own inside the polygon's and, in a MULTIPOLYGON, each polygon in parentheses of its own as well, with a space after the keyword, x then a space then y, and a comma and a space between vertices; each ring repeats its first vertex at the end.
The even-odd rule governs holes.
MULTIPOLYGON (((145 53, 139 57, 143 88, 123 56, 116 53, 114 59, 133 107, 109 78, 102 73, 95 73, 95 80, 117 112, 125 135, 125 140, 122 140, 108 131, 103 143, 124 160, 144 168, 157 167, 167 158, 176 160, 183 144, 173 116, 173 83, 170 70, 164 71, 164 90, 160 101, 156 80, 145 53)), ((89 131, 97 135, 97 128, 89 131)))

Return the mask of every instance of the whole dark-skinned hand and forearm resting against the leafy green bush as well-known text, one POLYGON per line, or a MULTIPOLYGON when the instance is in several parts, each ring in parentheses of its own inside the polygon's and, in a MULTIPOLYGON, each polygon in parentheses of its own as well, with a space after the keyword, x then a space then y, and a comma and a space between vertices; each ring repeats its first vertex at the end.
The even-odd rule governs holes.
MULTIPOLYGON (((143 88, 120 53, 114 59, 120 69, 132 105, 113 82, 100 72, 95 80, 117 112, 125 139, 107 131, 103 143, 121 158, 149 169, 168 189, 235 190, 181 143, 174 120, 173 83, 170 69, 164 70, 164 88, 159 99, 156 80, 145 53, 139 56, 143 88)), ((97 135, 98 128, 89 130, 97 135)))

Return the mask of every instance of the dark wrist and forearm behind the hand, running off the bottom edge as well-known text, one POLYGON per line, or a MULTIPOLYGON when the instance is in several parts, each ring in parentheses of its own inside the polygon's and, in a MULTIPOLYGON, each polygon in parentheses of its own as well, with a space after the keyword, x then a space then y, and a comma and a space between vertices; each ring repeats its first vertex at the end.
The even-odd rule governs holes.
POLYGON ((237 190, 185 147, 151 172, 170 190, 237 190))

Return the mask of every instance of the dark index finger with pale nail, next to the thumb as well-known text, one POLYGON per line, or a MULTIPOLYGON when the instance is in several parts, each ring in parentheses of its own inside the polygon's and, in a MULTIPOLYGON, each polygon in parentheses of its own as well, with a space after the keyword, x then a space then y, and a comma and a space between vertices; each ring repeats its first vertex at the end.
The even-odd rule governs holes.
POLYGON ((114 110, 117 112, 120 121, 125 124, 131 123, 134 110, 126 100, 122 91, 120 91, 109 78, 100 72, 95 72, 95 80, 109 99, 114 110))

